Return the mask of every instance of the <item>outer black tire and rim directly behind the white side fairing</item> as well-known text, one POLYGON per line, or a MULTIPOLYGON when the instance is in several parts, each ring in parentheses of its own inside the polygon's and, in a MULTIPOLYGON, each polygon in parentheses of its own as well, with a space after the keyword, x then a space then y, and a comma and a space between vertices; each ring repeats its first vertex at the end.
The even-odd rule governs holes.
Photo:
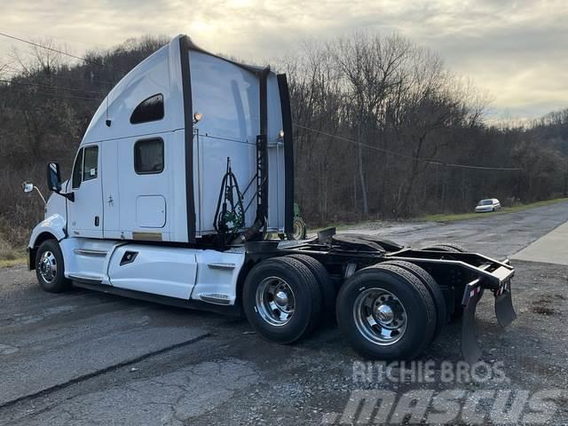
POLYGON ((258 334, 272 342, 293 343, 318 325, 318 281, 297 259, 266 259, 248 272, 242 305, 258 334))

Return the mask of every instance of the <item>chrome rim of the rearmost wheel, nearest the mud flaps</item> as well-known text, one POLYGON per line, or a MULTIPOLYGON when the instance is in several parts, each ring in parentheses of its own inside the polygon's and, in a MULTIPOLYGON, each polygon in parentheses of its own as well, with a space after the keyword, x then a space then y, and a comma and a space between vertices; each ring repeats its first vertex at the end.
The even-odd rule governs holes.
POLYGON ((398 297, 384 288, 367 288, 353 306, 353 319, 369 342, 388 346, 406 333, 406 310, 398 297))

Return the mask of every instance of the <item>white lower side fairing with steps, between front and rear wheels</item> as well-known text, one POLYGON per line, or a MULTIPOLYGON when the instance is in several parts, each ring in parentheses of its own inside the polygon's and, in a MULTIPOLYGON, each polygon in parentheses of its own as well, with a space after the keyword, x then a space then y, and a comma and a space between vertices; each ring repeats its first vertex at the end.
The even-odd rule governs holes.
POLYGON ((86 238, 60 241, 65 276, 177 299, 234 304, 242 252, 86 238), (125 255, 134 254, 124 262, 125 255), (121 264, 122 263, 122 264, 121 264))

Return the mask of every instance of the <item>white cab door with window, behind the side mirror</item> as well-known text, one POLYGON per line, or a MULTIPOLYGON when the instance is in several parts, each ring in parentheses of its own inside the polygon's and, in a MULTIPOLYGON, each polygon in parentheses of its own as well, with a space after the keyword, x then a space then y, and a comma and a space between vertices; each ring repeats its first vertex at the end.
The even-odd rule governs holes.
POLYGON ((67 229, 72 237, 103 237, 99 164, 99 144, 82 146, 79 149, 70 182, 75 201, 67 201, 67 229))

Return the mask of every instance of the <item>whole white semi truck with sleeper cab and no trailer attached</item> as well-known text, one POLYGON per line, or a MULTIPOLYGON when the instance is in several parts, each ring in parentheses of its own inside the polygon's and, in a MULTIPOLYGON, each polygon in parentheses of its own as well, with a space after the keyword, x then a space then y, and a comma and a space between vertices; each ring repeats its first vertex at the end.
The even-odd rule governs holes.
POLYGON ((110 91, 71 177, 48 165, 53 194, 29 240, 29 268, 49 292, 75 285, 244 313, 278 343, 336 319, 369 359, 412 359, 463 317, 463 355, 478 359, 484 290, 501 325, 515 319, 509 261, 333 229, 264 240, 292 233, 292 136, 286 75, 175 37, 110 91))

